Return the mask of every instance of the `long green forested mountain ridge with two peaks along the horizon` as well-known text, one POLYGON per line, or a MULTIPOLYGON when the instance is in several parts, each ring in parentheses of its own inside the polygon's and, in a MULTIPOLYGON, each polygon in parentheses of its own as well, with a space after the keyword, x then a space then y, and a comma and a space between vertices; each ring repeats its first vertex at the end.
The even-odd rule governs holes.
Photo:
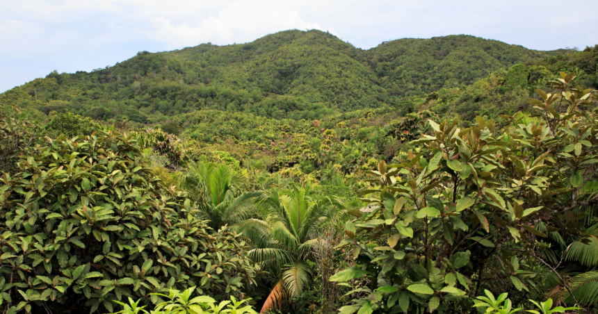
POLYGON ((497 69, 558 52, 467 35, 395 40, 362 50, 329 33, 294 30, 247 44, 144 51, 90 73, 54 72, 0 99, 45 113, 127 116, 144 124, 197 109, 316 119, 396 105, 401 97, 466 85, 497 69))

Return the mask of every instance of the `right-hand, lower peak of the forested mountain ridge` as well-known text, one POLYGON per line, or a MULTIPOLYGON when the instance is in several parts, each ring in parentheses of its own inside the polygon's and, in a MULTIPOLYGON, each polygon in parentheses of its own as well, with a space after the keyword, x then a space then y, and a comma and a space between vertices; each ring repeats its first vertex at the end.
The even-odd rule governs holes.
POLYGON ((385 42, 366 51, 366 57, 389 92, 409 96, 469 85, 497 69, 566 52, 450 35, 385 42))

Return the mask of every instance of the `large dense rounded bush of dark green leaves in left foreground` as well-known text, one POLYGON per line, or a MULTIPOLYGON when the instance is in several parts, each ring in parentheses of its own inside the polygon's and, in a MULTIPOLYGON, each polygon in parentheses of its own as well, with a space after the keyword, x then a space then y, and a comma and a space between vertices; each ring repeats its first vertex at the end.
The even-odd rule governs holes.
POLYGON ((212 233, 183 192, 166 190, 136 140, 100 132, 49 147, 4 174, 0 290, 9 313, 68 304, 79 313, 113 300, 197 286, 240 295, 254 267, 245 240, 212 233))

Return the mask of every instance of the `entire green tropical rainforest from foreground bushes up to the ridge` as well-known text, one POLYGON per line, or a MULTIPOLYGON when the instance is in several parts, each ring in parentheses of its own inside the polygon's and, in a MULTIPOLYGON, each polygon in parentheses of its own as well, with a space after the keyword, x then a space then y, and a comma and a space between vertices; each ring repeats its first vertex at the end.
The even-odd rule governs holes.
POLYGON ((0 94, 2 313, 598 313, 598 45, 321 31, 0 94))

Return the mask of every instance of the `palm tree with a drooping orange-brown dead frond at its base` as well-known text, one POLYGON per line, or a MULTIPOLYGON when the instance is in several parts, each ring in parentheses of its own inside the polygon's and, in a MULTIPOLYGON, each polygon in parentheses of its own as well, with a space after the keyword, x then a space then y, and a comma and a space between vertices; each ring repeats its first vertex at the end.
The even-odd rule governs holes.
POLYGON ((239 226, 256 247, 250 256, 262 269, 274 274, 277 281, 261 313, 282 304, 284 299, 298 296, 312 277, 306 261, 318 245, 318 230, 334 221, 331 199, 312 200, 309 187, 293 185, 289 195, 273 189, 270 197, 261 203, 264 220, 251 219, 239 226))

